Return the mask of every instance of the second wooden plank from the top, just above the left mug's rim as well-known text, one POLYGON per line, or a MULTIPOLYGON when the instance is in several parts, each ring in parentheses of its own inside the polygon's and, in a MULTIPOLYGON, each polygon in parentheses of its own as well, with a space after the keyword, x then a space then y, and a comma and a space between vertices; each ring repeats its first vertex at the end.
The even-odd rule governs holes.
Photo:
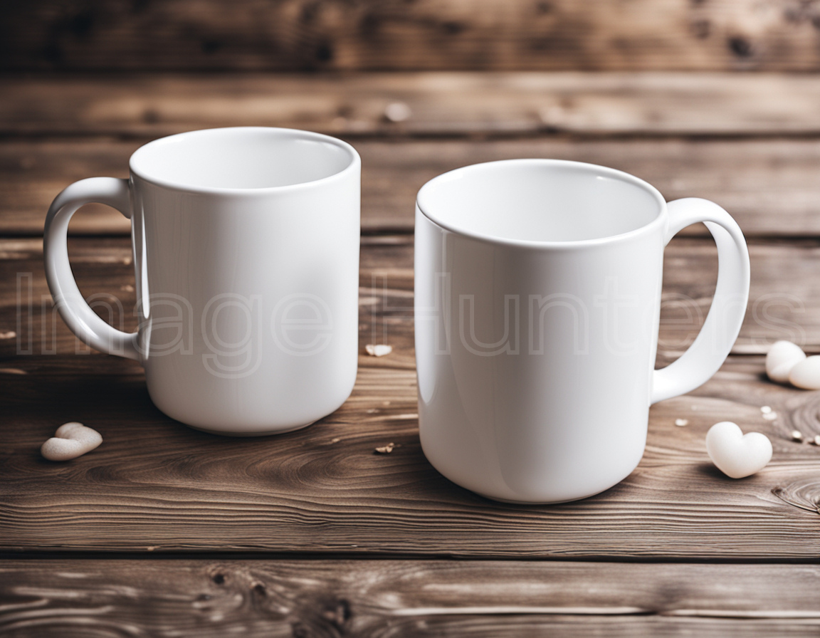
POLYGON ((357 136, 820 132, 817 75, 47 75, 0 85, 2 135, 154 137, 238 125, 357 136))

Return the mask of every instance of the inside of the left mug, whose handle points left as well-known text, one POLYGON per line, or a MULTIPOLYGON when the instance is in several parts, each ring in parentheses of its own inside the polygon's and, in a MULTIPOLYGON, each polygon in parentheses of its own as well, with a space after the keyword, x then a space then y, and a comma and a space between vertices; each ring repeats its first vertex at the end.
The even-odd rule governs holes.
POLYGON ((237 127, 196 130, 139 148, 131 171, 172 188, 269 189, 307 184, 356 161, 349 144, 302 130, 237 127))

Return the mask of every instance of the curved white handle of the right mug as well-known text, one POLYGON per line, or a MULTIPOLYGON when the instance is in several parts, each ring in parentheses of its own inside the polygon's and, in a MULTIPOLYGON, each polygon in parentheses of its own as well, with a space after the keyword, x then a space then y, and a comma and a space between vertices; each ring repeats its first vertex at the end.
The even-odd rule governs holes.
POLYGON ((717 288, 695 342, 675 362, 654 371, 651 403, 695 390, 717 372, 740 333, 749 301, 749 250, 737 222, 708 199, 676 199, 667 207, 665 244, 698 221, 712 233, 717 244, 717 288))

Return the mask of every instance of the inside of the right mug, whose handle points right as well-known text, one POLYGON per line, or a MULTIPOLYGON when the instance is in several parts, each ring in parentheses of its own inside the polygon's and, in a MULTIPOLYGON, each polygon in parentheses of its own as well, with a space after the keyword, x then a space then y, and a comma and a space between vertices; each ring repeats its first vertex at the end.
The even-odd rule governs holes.
POLYGON ((657 220, 657 189, 604 166, 549 159, 475 164, 439 175, 418 194, 431 221, 459 234, 512 242, 577 242, 657 220))

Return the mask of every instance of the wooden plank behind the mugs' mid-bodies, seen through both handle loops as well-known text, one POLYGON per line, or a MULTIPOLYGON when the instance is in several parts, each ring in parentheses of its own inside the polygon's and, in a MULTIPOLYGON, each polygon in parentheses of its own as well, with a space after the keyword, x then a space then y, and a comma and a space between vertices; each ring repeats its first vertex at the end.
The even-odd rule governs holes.
MULTIPOLYGON (((820 247, 752 244, 752 285, 745 322, 733 352, 765 353, 776 340, 820 352, 820 247)), ((98 313, 123 330, 134 330, 135 294, 130 241, 71 240, 80 289, 98 313)), ((0 239, 0 359, 16 353, 90 353, 53 311, 39 239, 0 239), (19 312, 18 312, 19 309, 19 312)), ((695 340, 708 312, 717 277, 717 251, 706 239, 673 239, 667 247, 658 339, 661 358, 676 358, 695 340)), ((367 365, 412 370, 412 237, 362 238, 359 338, 390 344, 389 358, 367 365)), ((362 354, 362 356, 364 356, 362 354)))

